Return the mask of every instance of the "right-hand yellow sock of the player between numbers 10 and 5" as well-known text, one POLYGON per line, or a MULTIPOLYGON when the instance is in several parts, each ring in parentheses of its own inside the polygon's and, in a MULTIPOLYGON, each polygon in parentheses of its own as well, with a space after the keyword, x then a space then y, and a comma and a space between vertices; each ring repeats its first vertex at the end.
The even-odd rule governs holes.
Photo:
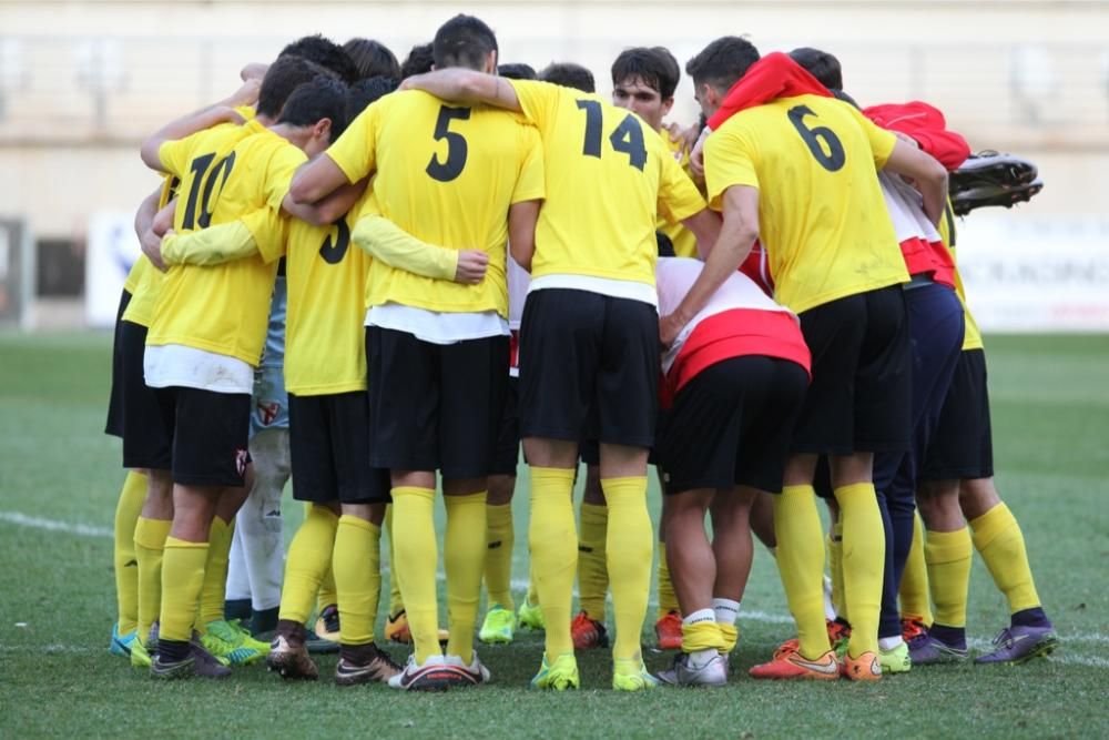
POLYGON ((373 642, 381 596, 381 528, 360 517, 340 516, 332 569, 338 587, 339 640, 373 642))

